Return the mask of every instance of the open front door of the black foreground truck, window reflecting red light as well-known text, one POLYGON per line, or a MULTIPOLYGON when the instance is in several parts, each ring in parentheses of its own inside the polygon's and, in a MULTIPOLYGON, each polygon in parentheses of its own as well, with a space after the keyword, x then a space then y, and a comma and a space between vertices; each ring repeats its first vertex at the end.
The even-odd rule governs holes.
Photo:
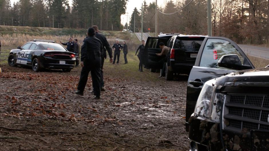
POLYGON ((189 128, 188 120, 194 111, 197 98, 204 83, 213 78, 240 70, 232 66, 219 66, 219 59, 224 55, 231 54, 238 55, 242 66, 247 66, 249 69, 254 68, 246 54, 234 41, 224 37, 205 37, 188 79, 186 100, 187 131, 189 128))

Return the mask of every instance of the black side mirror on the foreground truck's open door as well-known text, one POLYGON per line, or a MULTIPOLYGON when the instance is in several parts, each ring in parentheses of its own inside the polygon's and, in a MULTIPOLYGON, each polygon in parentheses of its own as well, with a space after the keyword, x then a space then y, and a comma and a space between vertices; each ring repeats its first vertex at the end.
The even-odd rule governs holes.
POLYGON ((217 64, 219 67, 226 67, 235 70, 252 69, 250 65, 242 65, 238 55, 236 54, 223 55, 217 64))

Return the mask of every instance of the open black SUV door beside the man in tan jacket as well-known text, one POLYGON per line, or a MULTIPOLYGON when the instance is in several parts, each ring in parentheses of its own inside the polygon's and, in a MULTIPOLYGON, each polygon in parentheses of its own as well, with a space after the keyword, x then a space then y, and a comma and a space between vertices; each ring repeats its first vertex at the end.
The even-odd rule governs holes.
MULTIPOLYGON (((170 37, 169 37, 170 38, 170 37)), ((163 68, 163 59, 165 56, 157 56, 156 53, 161 53, 161 48, 159 43, 163 42, 167 45, 169 38, 157 38, 157 37, 148 37, 145 45, 145 57, 144 65, 145 68, 150 69, 162 69, 163 68)))

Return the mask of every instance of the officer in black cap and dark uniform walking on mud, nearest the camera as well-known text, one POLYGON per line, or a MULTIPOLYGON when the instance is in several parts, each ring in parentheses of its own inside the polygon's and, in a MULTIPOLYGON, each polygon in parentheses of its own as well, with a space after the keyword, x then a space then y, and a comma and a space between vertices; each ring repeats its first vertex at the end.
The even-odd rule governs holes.
POLYGON ((92 85, 94 87, 94 99, 100 99, 101 94, 101 54, 103 46, 101 41, 94 37, 95 30, 90 27, 87 31, 88 37, 84 39, 81 47, 81 62, 82 70, 78 83, 78 90, 75 92, 83 96, 83 92, 88 80, 89 72, 92 74, 92 85))

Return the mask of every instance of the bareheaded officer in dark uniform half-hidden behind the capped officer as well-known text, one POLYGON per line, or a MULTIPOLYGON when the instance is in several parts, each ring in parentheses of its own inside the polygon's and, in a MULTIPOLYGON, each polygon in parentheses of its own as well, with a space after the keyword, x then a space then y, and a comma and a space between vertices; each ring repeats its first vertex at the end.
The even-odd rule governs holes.
POLYGON ((100 33, 98 33, 98 26, 94 25, 92 26, 92 28, 95 29, 95 37, 98 38, 102 45, 103 45, 103 52, 102 52, 102 55, 101 55, 101 91, 105 91, 104 89, 104 73, 103 73, 103 66, 104 66, 104 59, 106 59, 106 50, 108 52, 108 55, 109 55, 109 61, 110 63, 112 63, 113 61, 113 58, 112 58, 112 50, 110 48, 110 45, 106 39, 106 37, 104 35, 101 35, 100 33))

